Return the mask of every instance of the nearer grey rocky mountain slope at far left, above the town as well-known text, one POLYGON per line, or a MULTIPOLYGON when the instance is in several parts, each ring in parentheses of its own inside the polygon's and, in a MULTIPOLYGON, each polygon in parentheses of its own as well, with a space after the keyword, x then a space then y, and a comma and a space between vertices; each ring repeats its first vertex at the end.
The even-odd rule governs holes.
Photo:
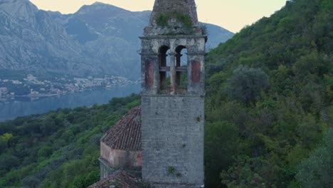
POLYGON ((28 0, 1 1, 0 24, 1 69, 76 75, 100 72, 85 60, 65 29, 28 0))

